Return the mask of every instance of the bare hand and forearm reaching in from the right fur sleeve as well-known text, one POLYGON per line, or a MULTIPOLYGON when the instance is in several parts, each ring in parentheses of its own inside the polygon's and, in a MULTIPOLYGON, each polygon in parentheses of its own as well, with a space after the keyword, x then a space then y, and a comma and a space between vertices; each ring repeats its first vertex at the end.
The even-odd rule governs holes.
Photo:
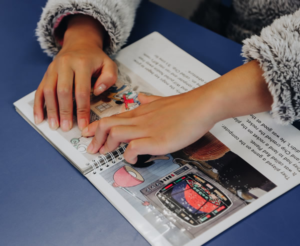
POLYGON ((179 150, 204 135, 216 122, 271 108, 272 96, 253 60, 189 92, 168 97, 139 94, 131 111, 94 121, 83 129, 93 136, 87 151, 106 153, 129 142, 124 158, 179 150))

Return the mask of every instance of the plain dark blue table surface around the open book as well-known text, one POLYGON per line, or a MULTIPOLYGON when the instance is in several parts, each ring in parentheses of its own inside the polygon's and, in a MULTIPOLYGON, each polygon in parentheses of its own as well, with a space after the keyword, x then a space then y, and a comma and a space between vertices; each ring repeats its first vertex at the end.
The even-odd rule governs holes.
MULTIPOLYGON (((148 245, 129 222, 15 112, 51 58, 34 36, 45 0, 4 1, 0 8, 0 244, 148 245)), ((241 45, 144 1, 131 43, 158 31, 223 74, 242 64, 241 45)), ((205 245, 299 245, 300 186, 205 245)))

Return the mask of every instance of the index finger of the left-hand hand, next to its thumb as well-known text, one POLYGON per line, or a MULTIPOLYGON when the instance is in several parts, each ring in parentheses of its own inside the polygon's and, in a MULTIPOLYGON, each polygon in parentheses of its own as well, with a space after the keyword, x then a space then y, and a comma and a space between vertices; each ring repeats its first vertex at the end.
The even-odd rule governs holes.
POLYGON ((80 130, 89 123, 90 79, 91 73, 87 70, 78 70, 75 72, 75 99, 77 122, 80 130))

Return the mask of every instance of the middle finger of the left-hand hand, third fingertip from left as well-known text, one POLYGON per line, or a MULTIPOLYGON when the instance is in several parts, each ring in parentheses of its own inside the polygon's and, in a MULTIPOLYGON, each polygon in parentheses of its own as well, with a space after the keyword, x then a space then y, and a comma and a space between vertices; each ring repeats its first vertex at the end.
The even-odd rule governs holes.
POLYGON ((73 123, 73 70, 60 69, 57 78, 57 97, 59 104, 60 128, 68 131, 73 123))

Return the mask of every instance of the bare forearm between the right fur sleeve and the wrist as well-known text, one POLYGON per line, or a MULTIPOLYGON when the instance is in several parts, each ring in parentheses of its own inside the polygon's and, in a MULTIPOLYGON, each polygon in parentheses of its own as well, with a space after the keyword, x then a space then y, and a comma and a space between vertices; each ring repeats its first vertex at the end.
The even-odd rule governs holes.
POLYGON ((214 122, 271 109, 272 96, 262 72, 253 60, 197 89, 207 94, 214 122))

